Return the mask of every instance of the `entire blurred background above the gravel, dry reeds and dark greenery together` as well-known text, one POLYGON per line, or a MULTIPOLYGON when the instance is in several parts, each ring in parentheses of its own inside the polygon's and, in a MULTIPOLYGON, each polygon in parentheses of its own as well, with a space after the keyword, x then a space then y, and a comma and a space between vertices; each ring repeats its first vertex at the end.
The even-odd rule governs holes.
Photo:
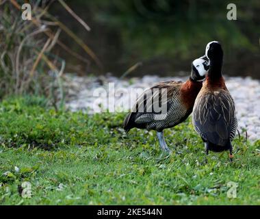
POLYGON ((211 40, 222 42, 225 75, 260 78, 260 1, 233 1, 237 21, 226 18, 229 3, 0 0, 0 96, 48 96, 57 108, 64 73, 187 75, 211 40))

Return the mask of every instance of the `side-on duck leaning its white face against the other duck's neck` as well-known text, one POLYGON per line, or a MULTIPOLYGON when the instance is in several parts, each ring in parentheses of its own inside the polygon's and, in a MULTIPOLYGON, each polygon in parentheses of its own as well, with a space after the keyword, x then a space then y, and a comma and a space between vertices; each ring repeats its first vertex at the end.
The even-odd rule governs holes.
POLYGON ((192 72, 187 81, 160 82, 144 91, 131 113, 125 118, 125 131, 128 132, 134 127, 148 131, 155 130, 161 149, 170 153, 164 140, 163 130, 182 123, 192 113, 194 101, 203 86, 202 81, 208 69, 209 60, 204 55, 192 62, 192 72), (163 100, 161 96, 165 93, 167 98, 163 100), (166 106, 166 113, 161 114, 151 110, 155 105, 156 96, 159 96, 157 104, 166 106), (139 107, 141 105, 142 107, 139 107))

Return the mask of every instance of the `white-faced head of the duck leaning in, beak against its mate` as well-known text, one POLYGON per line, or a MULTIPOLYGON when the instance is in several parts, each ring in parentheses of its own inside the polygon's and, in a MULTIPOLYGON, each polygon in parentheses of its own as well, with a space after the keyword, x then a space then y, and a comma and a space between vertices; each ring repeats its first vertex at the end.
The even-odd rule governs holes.
POLYGON ((205 79, 208 70, 209 60, 206 55, 199 57, 192 62, 192 73, 190 74, 190 79, 192 79, 192 81, 201 81, 205 79))

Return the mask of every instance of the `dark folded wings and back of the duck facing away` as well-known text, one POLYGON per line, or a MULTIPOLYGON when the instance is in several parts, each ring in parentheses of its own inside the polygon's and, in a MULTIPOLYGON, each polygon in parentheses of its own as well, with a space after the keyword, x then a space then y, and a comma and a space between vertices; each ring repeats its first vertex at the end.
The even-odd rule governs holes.
POLYGON ((235 103, 226 89, 202 88, 196 98, 192 118, 201 138, 216 146, 229 144, 237 131, 235 103))

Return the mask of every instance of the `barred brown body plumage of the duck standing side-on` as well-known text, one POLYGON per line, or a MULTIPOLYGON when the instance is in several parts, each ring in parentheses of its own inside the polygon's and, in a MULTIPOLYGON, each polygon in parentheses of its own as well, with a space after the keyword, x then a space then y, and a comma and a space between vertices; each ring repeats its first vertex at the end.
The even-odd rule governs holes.
POLYGON ((185 120, 192 110, 187 109, 181 100, 182 85, 181 81, 166 81, 146 90, 137 100, 132 112, 125 118, 124 129, 129 131, 137 127, 162 131, 185 120), (166 100, 161 99, 165 91, 167 92, 166 100), (157 104, 154 100, 158 100, 161 107, 167 107, 166 114, 154 112, 153 106, 157 104), (140 109, 143 111, 140 112, 140 109))

